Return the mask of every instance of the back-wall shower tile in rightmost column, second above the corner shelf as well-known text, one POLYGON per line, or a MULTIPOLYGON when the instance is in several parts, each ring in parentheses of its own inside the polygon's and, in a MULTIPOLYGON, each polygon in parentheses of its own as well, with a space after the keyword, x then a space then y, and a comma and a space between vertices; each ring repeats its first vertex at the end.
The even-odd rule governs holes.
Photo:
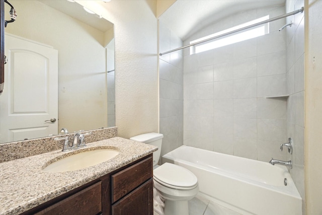
POLYGON ((286 52, 279 51, 257 57, 257 76, 270 76, 286 73, 286 52))

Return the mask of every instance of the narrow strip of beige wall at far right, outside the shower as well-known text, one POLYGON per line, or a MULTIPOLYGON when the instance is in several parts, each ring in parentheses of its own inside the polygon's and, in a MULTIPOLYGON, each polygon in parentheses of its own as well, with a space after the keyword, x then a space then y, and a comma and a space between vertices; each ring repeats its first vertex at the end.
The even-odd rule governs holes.
POLYGON ((322 1, 305 1, 306 214, 322 214, 322 1))

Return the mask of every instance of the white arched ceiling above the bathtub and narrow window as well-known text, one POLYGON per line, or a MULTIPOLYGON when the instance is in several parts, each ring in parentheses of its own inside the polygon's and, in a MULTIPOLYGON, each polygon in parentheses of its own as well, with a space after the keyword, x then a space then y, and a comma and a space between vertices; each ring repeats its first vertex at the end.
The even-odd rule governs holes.
POLYGON ((285 0, 177 0, 159 20, 184 41, 216 20, 277 5, 285 5, 285 0))

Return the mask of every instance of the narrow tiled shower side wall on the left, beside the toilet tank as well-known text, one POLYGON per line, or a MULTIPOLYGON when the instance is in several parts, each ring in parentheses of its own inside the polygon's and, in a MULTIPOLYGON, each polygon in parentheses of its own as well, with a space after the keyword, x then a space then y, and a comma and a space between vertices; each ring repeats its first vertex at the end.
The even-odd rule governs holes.
MULTIPOLYGON (((159 23, 159 51, 182 46, 181 39, 159 23)), ((161 156, 183 145, 183 53, 159 57, 161 156)))

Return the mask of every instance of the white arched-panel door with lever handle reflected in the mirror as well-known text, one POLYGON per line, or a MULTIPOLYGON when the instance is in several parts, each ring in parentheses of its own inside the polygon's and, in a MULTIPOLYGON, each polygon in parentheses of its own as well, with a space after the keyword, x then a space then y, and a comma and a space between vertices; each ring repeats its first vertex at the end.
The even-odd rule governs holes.
POLYGON ((57 134, 58 51, 6 34, 5 54, 8 63, 0 96, 0 141, 57 134))

